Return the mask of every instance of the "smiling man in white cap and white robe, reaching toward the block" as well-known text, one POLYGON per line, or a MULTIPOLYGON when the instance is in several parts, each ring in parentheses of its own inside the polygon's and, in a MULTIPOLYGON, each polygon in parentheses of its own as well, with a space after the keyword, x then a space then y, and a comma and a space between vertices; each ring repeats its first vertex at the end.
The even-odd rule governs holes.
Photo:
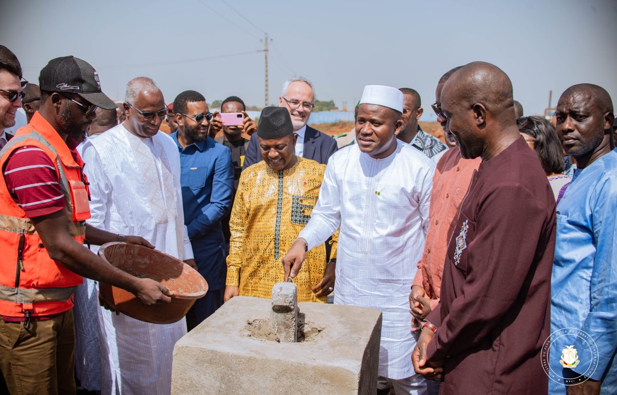
POLYGON ((413 371, 408 295, 429 225, 434 164, 399 141, 403 94, 365 86, 355 123, 357 144, 328 160, 309 223, 283 258, 285 278, 296 276, 305 250, 321 245, 340 225, 334 303, 383 312, 379 376, 399 394, 425 394, 413 371))

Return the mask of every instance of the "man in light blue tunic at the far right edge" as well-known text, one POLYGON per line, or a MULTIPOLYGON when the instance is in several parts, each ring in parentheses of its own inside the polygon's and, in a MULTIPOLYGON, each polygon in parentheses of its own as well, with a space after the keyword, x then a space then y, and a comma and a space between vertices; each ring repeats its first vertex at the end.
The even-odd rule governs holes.
POLYGON ((577 169, 557 206, 550 368, 558 377, 550 382, 550 394, 566 389, 568 394, 599 394, 600 389, 617 394, 614 119, 611 98, 597 85, 571 86, 557 102, 557 133, 577 169), (597 349, 590 349, 591 340, 597 349))

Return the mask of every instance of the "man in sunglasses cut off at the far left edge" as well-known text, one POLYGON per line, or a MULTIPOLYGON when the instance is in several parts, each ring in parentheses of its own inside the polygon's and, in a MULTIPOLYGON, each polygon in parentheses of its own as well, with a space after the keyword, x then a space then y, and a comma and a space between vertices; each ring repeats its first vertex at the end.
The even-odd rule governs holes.
POLYGON ((13 137, 4 131, 15 125, 17 109, 22 107, 22 66, 10 49, 0 45, 0 149, 13 137))

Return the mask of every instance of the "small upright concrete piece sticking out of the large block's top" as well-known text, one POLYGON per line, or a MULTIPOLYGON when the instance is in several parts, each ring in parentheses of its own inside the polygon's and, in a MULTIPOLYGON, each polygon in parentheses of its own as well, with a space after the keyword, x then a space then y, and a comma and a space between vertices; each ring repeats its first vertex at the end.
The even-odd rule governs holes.
POLYGON ((270 320, 280 341, 298 341, 298 287, 294 283, 276 283, 272 287, 270 320))

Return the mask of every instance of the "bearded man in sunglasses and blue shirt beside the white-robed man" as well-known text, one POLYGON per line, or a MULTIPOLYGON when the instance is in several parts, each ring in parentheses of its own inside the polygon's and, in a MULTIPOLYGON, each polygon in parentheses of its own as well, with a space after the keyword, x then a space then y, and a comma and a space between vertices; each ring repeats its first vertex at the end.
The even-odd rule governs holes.
MULTIPOLYGON (((170 136, 180 151, 184 223, 197 268, 209 287, 193 307, 197 325, 223 305, 227 266, 221 219, 231 209, 233 166, 230 149, 208 136, 212 113, 202 94, 178 94, 173 110, 178 131, 170 136)), ((187 326, 194 327, 188 318, 187 326)))

